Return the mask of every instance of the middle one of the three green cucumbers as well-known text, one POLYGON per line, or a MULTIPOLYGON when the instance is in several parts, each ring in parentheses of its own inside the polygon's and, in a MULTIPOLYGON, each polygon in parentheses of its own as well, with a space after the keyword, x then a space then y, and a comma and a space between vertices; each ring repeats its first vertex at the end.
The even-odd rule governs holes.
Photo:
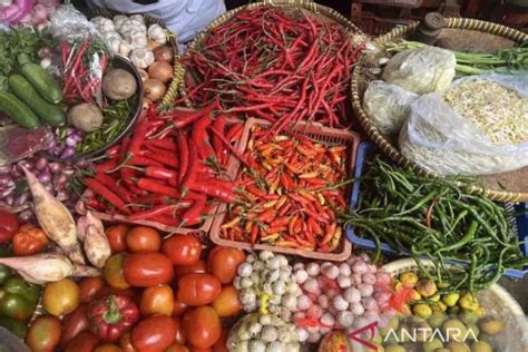
POLYGON ((20 75, 11 75, 8 79, 9 88, 20 98, 31 110, 33 110, 41 121, 57 127, 66 121, 66 114, 57 105, 51 105, 42 99, 31 84, 20 75))

